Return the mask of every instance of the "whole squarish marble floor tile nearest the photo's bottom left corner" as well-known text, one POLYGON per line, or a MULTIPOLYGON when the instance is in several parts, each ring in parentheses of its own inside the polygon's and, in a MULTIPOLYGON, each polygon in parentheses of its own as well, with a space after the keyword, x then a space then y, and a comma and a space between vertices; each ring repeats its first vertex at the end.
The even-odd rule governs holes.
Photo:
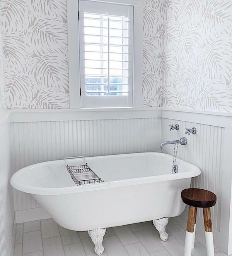
POLYGON ((42 251, 42 239, 40 231, 26 232, 23 234, 22 252, 33 253, 36 251, 42 251))

